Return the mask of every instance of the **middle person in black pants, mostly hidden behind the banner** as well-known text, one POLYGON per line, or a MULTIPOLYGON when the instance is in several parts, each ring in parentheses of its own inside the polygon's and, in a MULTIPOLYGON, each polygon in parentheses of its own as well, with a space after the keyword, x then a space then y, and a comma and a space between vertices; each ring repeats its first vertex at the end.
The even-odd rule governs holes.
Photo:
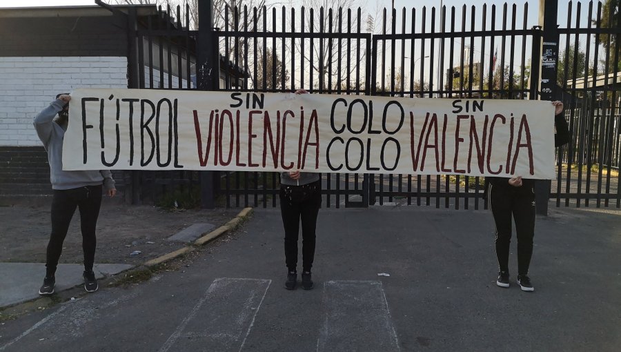
MULTIPOLYGON (((295 94, 307 94, 299 89, 295 94)), ((284 226, 285 264, 287 280, 285 288, 297 285, 297 239, 302 220, 302 289, 313 289, 311 268, 315 259, 315 229, 317 215, 322 206, 322 182, 318 173, 302 173, 299 170, 280 173, 280 213, 284 226)))

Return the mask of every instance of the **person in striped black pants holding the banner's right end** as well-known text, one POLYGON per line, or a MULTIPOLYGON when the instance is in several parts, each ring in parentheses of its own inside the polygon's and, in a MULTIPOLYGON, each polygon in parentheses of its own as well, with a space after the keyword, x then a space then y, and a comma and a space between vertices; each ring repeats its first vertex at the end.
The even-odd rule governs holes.
MULTIPOLYGON (((553 101, 557 118, 563 111, 560 101, 553 101)), ((558 145, 557 145, 558 146, 558 145)), ((522 291, 535 291, 529 278, 535 236, 535 180, 517 177, 486 177, 487 197, 496 226, 496 256, 499 273, 496 284, 509 287, 509 245, 511 217, 515 220, 517 237, 517 284, 522 291)))

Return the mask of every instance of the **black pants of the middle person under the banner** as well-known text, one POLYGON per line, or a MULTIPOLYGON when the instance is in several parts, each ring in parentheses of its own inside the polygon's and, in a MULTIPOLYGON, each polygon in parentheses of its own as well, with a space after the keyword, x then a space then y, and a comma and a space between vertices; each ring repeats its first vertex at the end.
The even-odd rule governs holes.
POLYGON ((297 271, 297 238, 302 220, 302 270, 311 271, 315 259, 315 229, 322 206, 321 181, 302 186, 280 186, 280 213, 284 226, 285 262, 297 271))

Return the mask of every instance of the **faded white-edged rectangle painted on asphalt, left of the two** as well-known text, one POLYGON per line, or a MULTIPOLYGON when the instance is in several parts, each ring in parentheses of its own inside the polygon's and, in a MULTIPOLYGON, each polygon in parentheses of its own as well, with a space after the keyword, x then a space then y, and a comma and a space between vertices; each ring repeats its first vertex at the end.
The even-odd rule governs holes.
POLYGON ((226 277, 213 280, 159 352, 241 351, 271 282, 226 277))

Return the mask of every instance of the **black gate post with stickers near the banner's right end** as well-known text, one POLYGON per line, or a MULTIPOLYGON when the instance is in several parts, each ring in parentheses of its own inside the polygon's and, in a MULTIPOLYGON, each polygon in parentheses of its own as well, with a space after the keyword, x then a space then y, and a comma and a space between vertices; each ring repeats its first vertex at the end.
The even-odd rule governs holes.
MULTIPOLYGON (((558 0, 539 0, 539 24, 543 30, 543 41, 540 46, 540 97, 541 100, 552 101, 558 96, 556 74, 558 63, 558 0)), ((534 62, 531 64, 533 65, 534 62)), ((535 83, 535 82, 533 82, 535 83)), ((535 206, 538 215, 548 215, 548 201, 550 198, 551 181, 539 179, 535 182, 535 206)))

